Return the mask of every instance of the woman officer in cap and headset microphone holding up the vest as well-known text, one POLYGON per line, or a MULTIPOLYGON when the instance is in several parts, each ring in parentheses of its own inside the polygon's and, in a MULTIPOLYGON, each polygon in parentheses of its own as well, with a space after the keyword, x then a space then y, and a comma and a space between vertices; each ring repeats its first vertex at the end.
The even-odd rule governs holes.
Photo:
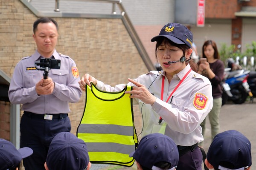
MULTIPOLYGON (((212 108, 212 86, 209 79, 192 71, 192 33, 186 26, 168 23, 156 41, 156 57, 163 71, 150 71, 136 79, 128 79, 133 94, 143 114, 143 136, 164 133, 179 148, 177 170, 201 170, 202 153, 197 147, 204 140, 200 123, 212 108)), ((194 70, 194 69, 193 69, 194 70)), ((121 91, 125 85, 111 87, 85 74, 80 88, 90 82, 103 91, 121 91)))

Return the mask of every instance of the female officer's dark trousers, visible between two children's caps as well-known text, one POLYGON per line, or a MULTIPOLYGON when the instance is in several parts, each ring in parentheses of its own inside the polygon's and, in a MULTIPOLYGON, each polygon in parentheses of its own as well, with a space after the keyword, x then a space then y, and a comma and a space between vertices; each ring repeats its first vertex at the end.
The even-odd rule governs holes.
POLYGON ((177 170, 202 170, 203 156, 199 147, 180 156, 177 170))

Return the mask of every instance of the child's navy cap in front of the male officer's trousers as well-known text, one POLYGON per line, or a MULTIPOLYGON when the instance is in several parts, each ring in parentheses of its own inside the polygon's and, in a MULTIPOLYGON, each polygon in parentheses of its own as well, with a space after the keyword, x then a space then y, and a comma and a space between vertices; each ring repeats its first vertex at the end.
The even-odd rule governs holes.
POLYGON ((85 170, 89 164, 87 146, 70 132, 58 133, 49 146, 46 164, 49 170, 85 170))

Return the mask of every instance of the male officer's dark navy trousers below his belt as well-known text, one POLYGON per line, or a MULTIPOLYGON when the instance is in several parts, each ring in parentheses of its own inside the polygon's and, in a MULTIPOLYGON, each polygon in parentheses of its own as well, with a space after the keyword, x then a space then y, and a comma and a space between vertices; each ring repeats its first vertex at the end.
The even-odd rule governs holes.
MULTIPOLYGON (((33 154, 23 159, 26 170, 45 170, 49 144, 60 132, 70 132, 71 124, 67 114, 45 120, 35 114, 23 114, 20 120, 20 147, 30 147, 33 154)), ((39 115, 40 116, 40 115, 39 115)))

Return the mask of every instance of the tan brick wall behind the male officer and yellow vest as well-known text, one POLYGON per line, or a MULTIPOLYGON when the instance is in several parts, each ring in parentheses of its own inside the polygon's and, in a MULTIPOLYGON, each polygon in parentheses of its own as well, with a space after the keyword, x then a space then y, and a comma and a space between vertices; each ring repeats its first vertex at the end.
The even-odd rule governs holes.
MULTIPOLYGON (((0 0, 0 13, 0 68, 12 77, 17 62, 36 49, 32 25, 37 17, 19 0, 0 0)), ((74 59, 80 77, 89 73, 106 84, 116 85, 148 72, 121 19, 54 19, 59 24, 56 50, 74 59)), ((72 133, 76 133, 84 102, 83 93, 78 103, 70 104, 72 133)), ((9 105, 4 108, 8 111, 9 105)), ((141 120, 137 106, 134 114, 135 124, 139 126, 141 120)), ((7 115, 1 121, 8 124, 7 115)), ((140 127, 137 131, 140 132, 140 127)))

